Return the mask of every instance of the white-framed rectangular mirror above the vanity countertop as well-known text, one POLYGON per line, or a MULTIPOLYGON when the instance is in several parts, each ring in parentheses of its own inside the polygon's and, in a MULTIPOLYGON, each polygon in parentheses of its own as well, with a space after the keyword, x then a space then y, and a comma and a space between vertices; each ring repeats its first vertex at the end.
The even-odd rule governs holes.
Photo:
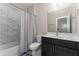
POLYGON ((71 33, 70 16, 56 18, 56 31, 61 33, 71 33))

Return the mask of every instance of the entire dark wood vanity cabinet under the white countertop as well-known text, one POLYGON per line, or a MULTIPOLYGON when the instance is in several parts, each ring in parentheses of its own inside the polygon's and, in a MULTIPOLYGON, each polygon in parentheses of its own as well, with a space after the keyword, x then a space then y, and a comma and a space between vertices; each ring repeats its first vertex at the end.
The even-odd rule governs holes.
POLYGON ((79 42, 42 37, 42 56, 79 56, 79 42))

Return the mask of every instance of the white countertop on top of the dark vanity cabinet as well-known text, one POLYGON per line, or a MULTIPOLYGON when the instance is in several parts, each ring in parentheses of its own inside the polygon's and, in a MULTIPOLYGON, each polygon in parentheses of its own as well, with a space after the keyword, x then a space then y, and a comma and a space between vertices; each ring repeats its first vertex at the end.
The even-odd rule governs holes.
POLYGON ((79 42, 79 34, 76 33, 58 33, 58 36, 56 36, 55 32, 48 32, 47 34, 42 36, 79 42))

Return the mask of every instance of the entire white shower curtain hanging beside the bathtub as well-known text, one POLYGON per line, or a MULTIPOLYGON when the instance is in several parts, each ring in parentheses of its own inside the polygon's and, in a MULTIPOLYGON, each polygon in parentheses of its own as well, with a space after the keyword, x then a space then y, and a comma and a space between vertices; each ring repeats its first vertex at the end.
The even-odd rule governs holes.
POLYGON ((21 19, 21 40, 20 53, 28 52, 29 45, 36 41, 36 22, 35 16, 24 12, 21 19))

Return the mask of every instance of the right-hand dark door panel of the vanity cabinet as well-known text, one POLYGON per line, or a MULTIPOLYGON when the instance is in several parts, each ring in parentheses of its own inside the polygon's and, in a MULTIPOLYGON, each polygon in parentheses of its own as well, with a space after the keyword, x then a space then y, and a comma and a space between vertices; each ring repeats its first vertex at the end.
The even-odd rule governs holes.
POLYGON ((75 56, 76 51, 62 46, 55 46, 55 56, 75 56))

